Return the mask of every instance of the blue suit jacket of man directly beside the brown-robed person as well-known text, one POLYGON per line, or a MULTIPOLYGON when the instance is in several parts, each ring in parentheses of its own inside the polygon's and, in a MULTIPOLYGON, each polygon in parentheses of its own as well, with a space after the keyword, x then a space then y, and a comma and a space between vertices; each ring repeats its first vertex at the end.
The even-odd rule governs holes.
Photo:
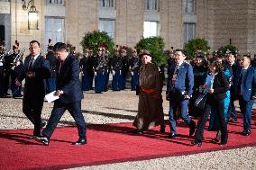
POLYGON ((189 96, 192 96, 194 86, 193 67, 187 62, 183 62, 180 65, 174 85, 175 93, 171 91, 172 76, 174 75, 175 67, 176 64, 172 64, 169 67, 169 84, 167 86, 167 94, 169 94, 169 98, 181 98, 183 94, 188 94, 189 96))

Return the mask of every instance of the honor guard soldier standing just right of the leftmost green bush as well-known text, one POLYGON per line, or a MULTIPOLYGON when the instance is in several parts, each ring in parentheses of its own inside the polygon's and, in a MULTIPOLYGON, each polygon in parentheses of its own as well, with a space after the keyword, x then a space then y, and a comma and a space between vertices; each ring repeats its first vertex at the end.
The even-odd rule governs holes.
POLYGON ((113 81, 112 81, 113 91, 120 91, 122 65, 123 65, 123 60, 119 54, 119 47, 118 45, 116 45, 114 49, 114 57, 111 59, 111 63, 110 63, 110 67, 113 75, 113 81))

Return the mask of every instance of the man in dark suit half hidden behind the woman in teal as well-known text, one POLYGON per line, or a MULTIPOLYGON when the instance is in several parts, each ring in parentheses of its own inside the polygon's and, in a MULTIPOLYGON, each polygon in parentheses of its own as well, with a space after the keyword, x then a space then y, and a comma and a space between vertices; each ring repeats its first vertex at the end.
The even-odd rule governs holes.
POLYGON ((232 79, 231 79, 231 85, 230 85, 230 103, 229 103, 229 108, 228 108, 228 112, 227 112, 227 117, 229 119, 229 121, 233 122, 236 121, 236 111, 235 111, 235 107, 233 102, 235 100, 237 100, 235 93, 234 93, 234 88, 235 88, 235 82, 236 82, 236 78, 238 77, 237 74, 239 72, 240 69, 240 64, 238 62, 235 61, 235 53, 233 52, 229 52, 226 55, 226 61, 228 63, 229 66, 231 66, 232 68, 232 79))

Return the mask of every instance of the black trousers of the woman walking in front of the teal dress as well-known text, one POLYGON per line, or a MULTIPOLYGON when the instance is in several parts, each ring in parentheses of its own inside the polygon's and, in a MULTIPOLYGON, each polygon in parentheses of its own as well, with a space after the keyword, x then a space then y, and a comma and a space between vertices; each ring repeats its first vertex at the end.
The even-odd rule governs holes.
POLYGON ((209 114, 212 108, 216 109, 216 114, 219 116, 220 121, 220 130, 222 132, 221 142, 226 143, 228 134, 227 134, 227 123, 224 118, 224 100, 215 100, 212 95, 209 95, 206 100, 206 106, 203 110, 202 120, 198 122, 197 131, 195 134, 195 139, 202 141, 204 135, 204 129, 206 126, 206 121, 209 117, 209 114))

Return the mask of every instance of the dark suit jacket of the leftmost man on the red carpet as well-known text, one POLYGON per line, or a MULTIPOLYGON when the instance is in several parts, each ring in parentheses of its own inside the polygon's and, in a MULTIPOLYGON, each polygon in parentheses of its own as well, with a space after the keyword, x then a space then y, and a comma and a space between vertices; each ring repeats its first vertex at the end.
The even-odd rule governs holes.
POLYGON ((25 78, 24 85, 24 98, 44 98, 45 95, 45 85, 43 80, 50 77, 50 64, 49 61, 43 58, 41 55, 36 58, 33 62, 32 70, 29 70, 29 64, 32 56, 28 56, 24 60, 24 67, 21 76, 18 77, 20 82, 25 78), (29 71, 35 73, 34 77, 26 76, 29 71))

